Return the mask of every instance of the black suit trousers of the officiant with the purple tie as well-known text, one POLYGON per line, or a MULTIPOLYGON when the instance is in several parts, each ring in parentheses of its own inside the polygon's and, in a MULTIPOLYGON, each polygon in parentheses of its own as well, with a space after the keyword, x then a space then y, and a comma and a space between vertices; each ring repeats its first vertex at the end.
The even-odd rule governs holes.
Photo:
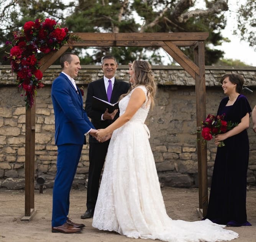
POLYGON ((89 174, 87 184, 87 210, 94 210, 100 182, 100 175, 105 162, 110 140, 103 143, 90 142, 89 146, 89 174))

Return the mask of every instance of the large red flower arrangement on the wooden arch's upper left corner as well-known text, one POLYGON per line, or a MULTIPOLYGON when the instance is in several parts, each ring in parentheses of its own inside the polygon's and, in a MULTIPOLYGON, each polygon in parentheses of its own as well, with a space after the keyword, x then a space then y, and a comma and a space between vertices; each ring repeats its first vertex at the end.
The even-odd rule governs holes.
POLYGON ((17 84, 25 92, 26 109, 34 104, 36 89, 43 88, 43 73, 38 67, 38 56, 58 50, 77 36, 68 33, 67 28, 55 20, 36 19, 24 24, 21 31, 13 32, 14 44, 10 50, 11 68, 17 73, 17 84))

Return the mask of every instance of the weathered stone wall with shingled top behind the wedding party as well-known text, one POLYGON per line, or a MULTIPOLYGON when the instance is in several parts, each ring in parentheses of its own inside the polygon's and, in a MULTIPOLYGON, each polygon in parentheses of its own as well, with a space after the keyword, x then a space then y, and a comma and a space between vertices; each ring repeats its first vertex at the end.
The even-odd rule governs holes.
MULTIPOLYGON (((120 66, 118 78, 128 80, 127 66, 120 66)), ((149 112, 146 124, 151 132, 153 150, 159 180, 162 185, 196 187, 196 99, 194 79, 181 67, 153 67, 158 91, 156 106, 149 112)), ((44 73, 43 89, 36 97, 35 177, 43 175, 46 187, 53 187, 56 174, 57 147, 54 145, 54 113, 51 102, 51 83, 59 75, 59 66, 52 66, 44 73)), ((256 104, 256 67, 243 69, 206 67, 207 114, 215 114, 224 97, 220 77, 224 73, 240 73, 245 86, 253 93, 245 92, 253 108, 256 104)), ((102 76, 99 66, 84 66, 77 84, 84 86, 102 76)), ((23 97, 15 85, 15 75, 8 66, 0 66, 0 187, 25 187, 25 107, 23 97)), ((85 96, 84 96, 85 101, 85 96)), ((248 129, 250 158, 248 185, 256 185, 256 135, 252 124, 248 129)), ((87 138, 88 140, 88 138, 87 138)), ((207 145, 208 180, 211 181, 216 154, 213 141, 207 145)), ((84 187, 89 168, 89 149, 84 145, 75 175, 73 187, 84 187)))

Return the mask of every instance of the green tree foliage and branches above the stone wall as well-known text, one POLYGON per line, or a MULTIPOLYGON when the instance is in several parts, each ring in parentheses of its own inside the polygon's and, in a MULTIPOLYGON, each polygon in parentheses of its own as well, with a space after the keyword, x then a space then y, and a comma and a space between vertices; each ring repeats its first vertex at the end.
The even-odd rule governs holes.
MULTIPOLYGON (((205 11, 218 2, 204 1, 205 11)), ((248 2, 255 9, 254 0, 248 2)), ((205 41, 205 62, 212 65, 224 54, 215 49, 215 46, 228 41, 220 32, 225 28, 223 13, 228 8, 224 2, 223 6, 218 6, 218 11, 204 14, 196 12, 185 17, 184 15, 195 10, 193 6, 194 1, 181 0, 0 0, 0 21, 5 26, 0 29, 0 63, 8 63, 3 59, 5 52, 10 50, 5 42, 13 39, 13 31, 21 28, 26 21, 53 18, 71 32, 209 32, 205 41)), ((251 8, 244 7, 246 11, 252 11, 251 8)), ((249 16, 248 19, 253 18, 249 16)), ((255 26, 255 18, 253 21, 255 26)), ((241 29, 243 33, 246 32, 245 28, 241 29)), ((251 35, 248 38, 253 37, 251 35)), ((251 40, 253 41, 255 38, 251 40)), ((190 59, 194 59, 193 48, 181 49, 190 59)), ((153 64, 161 64, 163 61, 158 47, 77 47, 73 51, 81 56, 82 64, 100 63, 104 54, 115 55, 122 64, 138 58, 148 59, 153 64)))

